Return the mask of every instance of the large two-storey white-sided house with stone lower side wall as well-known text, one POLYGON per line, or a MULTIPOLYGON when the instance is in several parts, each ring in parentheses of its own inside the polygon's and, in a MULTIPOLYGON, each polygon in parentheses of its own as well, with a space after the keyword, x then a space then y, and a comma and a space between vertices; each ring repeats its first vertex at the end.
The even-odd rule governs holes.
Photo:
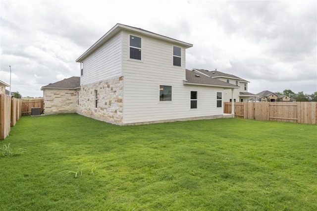
MULTIPOLYGON (((76 60, 81 77, 80 87, 71 89, 78 93, 72 112, 119 125, 233 117, 223 114, 224 92, 233 95, 239 87, 186 70, 192 46, 116 24, 76 60)), ((58 100, 49 89, 58 94, 64 88, 52 85, 42 87, 46 114, 59 106, 48 107, 58 100)))

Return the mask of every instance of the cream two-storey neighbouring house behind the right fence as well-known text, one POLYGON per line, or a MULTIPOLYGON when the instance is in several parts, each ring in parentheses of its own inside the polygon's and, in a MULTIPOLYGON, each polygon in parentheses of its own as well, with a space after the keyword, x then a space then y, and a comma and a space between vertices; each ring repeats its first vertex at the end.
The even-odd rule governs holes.
POLYGON ((248 102, 248 98, 250 97, 259 97, 258 95, 248 92, 248 83, 250 83, 249 81, 239 78, 235 75, 223 73, 217 70, 210 71, 205 69, 193 69, 193 71, 200 72, 217 80, 236 85, 238 89, 234 90, 233 97, 231 92, 224 92, 224 102, 232 102, 232 99, 233 102, 248 102))

